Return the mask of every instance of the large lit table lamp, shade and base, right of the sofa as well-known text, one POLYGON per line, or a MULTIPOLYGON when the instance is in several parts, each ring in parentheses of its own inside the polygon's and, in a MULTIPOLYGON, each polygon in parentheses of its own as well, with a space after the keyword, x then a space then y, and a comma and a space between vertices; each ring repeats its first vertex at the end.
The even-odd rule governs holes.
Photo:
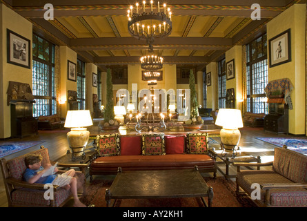
MULTIPOLYGON (((222 146, 226 150, 235 151, 235 147, 239 144, 241 138, 238 128, 243 127, 241 111, 221 108, 215 124, 223 127, 220 132, 222 146)), ((232 156, 235 157, 235 155, 232 156)))

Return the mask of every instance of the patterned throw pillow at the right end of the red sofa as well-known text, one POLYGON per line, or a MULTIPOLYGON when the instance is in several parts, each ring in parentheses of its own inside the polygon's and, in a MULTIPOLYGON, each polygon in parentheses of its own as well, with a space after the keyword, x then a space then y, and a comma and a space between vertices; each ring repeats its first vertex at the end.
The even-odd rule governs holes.
POLYGON ((190 154, 207 154, 207 133, 187 133, 186 148, 190 154))

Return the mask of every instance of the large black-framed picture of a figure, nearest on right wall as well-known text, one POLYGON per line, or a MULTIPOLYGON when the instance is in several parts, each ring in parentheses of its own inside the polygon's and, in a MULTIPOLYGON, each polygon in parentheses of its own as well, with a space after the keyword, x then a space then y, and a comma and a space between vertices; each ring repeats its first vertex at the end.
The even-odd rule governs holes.
POLYGON ((290 29, 268 40, 270 68, 291 61, 290 29))

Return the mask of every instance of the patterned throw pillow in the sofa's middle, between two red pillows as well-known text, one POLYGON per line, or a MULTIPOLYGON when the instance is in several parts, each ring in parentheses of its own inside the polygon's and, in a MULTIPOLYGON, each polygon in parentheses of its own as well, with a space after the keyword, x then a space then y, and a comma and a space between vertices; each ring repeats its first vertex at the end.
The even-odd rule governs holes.
POLYGON ((165 155, 164 134, 142 135, 143 155, 165 155))

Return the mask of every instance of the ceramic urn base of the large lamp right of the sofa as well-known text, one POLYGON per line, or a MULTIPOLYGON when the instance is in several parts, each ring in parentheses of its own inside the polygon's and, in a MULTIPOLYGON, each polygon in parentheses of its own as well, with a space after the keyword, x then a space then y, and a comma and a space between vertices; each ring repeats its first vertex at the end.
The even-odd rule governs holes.
POLYGON ((223 152, 226 155, 226 152, 232 152, 232 157, 237 155, 235 148, 238 146, 241 133, 238 129, 227 129, 222 128, 221 132, 221 147, 223 148, 223 152))

